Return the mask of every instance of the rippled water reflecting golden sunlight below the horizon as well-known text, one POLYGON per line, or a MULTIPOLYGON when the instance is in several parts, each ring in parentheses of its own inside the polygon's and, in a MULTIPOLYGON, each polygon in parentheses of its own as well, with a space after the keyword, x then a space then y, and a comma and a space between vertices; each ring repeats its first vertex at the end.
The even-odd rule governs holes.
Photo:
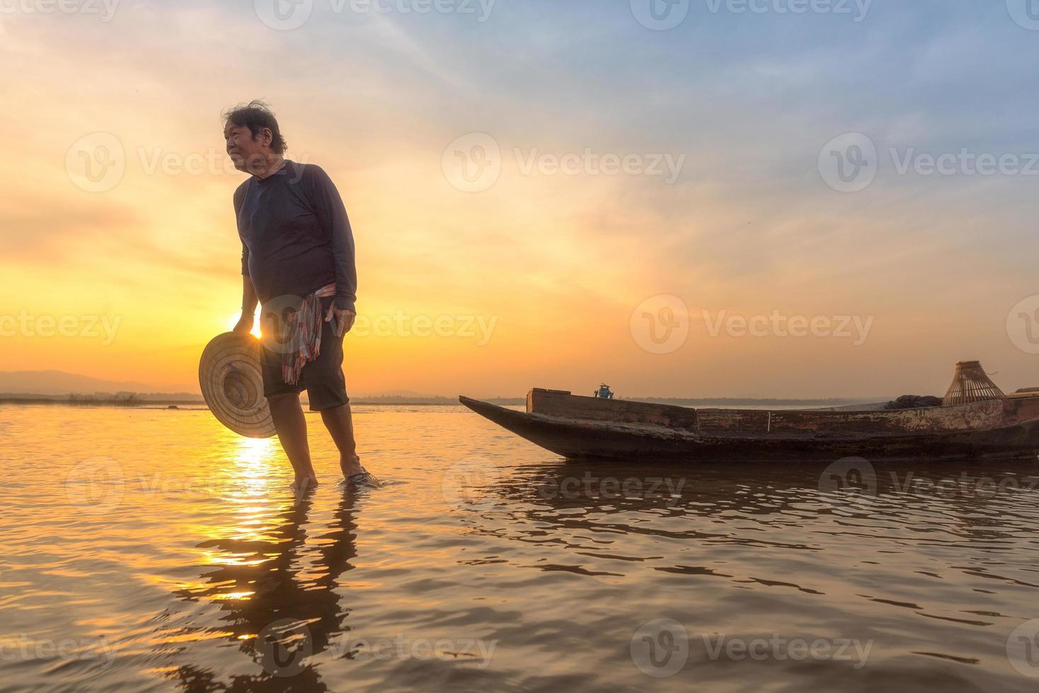
POLYGON ((0 407, 0 689, 1039 688, 1033 462, 567 464, 355 409, 385 488, 309 415, 297 499, 204 410, 0 407))

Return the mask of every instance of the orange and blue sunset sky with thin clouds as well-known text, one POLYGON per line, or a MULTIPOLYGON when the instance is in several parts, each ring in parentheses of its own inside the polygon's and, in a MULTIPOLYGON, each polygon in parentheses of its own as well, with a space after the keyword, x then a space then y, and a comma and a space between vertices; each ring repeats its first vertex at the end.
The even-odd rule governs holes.
POLYGON ((2 369, 198 391, 241 302, 220 113, 264 98, 353 226, 351 394, 940 395, 964 359, 1039 386, 1030 326, 1008 328, 1039 309, 1015 308, 1039 295, 1039 26, 1015 0, 693 0, 665 30, 641 0, 415 1, 287 3, 310 12, 293 29, 264 0, 0 4, 0 328, 31 328, 0 337, 2 369), (849 133, 877 149, 856 192, 821 165, 849 133), (652 353, 640 326, 675 300, 688 337, 652 353), (774 313, 870 329, 712 336, 774 313))

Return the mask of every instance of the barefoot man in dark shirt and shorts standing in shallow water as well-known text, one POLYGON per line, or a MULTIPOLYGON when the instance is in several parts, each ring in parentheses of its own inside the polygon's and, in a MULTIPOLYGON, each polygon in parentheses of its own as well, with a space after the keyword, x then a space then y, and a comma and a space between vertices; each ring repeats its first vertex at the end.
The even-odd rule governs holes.
POLYGON ((343 378, 357 286, 343 200, 320 167, 284 158, 285 139, 263 102, 228 111, 223 138, 235 168, 250 176, 234 196, 242 241, 242 316, 234 330, 251 331, 262 304, 264 396, 295 486, 317 483, 299 404, 305 389, 339 448, 347 483, 377 487, 357 456, 343 378))

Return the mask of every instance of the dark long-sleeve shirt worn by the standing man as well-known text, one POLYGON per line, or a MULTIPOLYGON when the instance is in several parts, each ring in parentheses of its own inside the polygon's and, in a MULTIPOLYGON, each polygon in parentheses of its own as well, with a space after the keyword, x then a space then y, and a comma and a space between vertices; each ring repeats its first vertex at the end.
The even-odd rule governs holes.
POLYGON ((336 284, 336 305, 356 310, 357 271, 346 207, 320 166, 286 160, 266 178, 235 191, 242 274, 261 303, 304 297, 336 284))

